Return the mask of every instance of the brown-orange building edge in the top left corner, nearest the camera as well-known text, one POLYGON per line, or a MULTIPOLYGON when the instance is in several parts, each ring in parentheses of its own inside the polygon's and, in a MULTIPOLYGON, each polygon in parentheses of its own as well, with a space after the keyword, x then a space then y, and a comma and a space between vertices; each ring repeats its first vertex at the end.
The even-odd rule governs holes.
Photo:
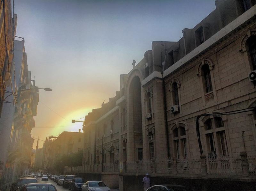
MULTIPOLYGON (((16 33, 17 14, 12 15, 11 0, 0 4, 0 117, 4 104, 6 86, 10 86, 10 75, 13 67, 13 41, 16 33), (5 13, 5 14, 4 14, 5 13), (9 59, 9 60, 8 60, 9 59), (8 72, 9 71, 9 72, 8 72)), ((0 164, 1 165, 1 164, 0 164)))

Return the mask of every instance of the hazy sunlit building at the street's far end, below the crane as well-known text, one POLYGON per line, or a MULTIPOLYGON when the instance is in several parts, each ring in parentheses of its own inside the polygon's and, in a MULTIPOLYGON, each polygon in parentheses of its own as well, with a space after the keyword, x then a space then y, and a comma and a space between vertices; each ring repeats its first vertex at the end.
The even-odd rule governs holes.
MULTIPOLYGON (((84 133, 63 131, 58 137, 46 138, 43 145, 43 166, 45 172, 57 173, 55 163, 64 154, 77 153, 83 150, 84 133)), ((39 155, 41 153, 39 152, 39 155)), ((37 154, 36 154, 37 158, 37 154)))

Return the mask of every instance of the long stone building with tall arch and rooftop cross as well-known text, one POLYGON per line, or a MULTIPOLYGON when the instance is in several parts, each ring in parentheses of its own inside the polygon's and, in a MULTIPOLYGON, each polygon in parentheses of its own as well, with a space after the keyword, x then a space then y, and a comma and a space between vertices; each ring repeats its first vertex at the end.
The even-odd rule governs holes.
POLYGON ((215 4, 120 76, 116 96, 85 117, 84 163, 67 173, 120 190, 142 190, 145 173, 193 190, 255 189, 256 2, 215 4))

